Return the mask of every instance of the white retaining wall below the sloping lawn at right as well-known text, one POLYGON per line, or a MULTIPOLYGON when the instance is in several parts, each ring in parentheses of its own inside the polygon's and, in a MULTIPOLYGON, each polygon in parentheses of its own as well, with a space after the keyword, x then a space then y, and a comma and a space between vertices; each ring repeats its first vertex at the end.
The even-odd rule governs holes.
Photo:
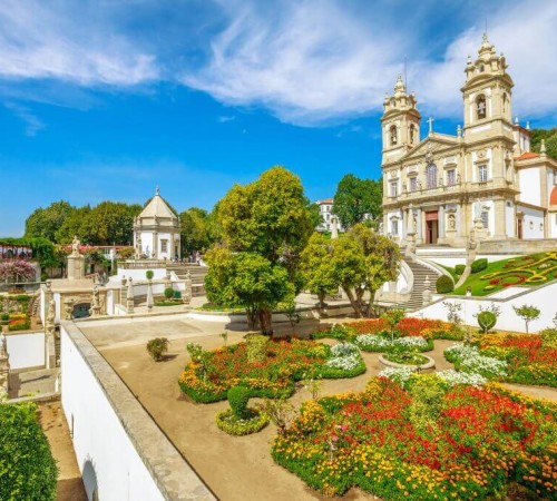
POLYGON ((447 321, 447 308, 443 306, 443 302, 458 303, 462 305, 460 316, 465 320, 468 325, 478 325, 476 317, 473 316, 480 310, 480 306, 488 308, 491 304, 499 306, 501 315, 497 321, 496 330, 501 331, 515 331, 515 332, 526 332, 524 321, 515 313, 512 306, 522 306, 525 304, 534 305, 541 311, 539 320, 530 322, 529 332, 538 332, 543 328, 553 326, 553 318, 557 313, 557 284, 549 284, 545 287, 537 287, 536 289, 522 288, 520 292, 512 297, 507 298, 476 298, 476 297, 459 297, 448 296, 444 299, 440 299, 436 303, 430 304, 421 310, 412 312, 409 316, 417 316, 421 318, 437 318, 447 321))

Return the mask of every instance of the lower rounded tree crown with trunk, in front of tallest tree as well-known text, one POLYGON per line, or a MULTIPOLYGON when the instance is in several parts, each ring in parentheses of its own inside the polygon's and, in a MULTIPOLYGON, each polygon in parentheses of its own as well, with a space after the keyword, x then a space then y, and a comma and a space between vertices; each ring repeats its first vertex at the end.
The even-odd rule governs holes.
POLYGON ((294 297, 286 269, 258 254, 231 253, 226 248, 209 250, 206 259, 209 269, 205 287, 209 301, 242 305, 250 328, 258 325, 263 334, 272 334, 271 312, 280 302, 294 297))

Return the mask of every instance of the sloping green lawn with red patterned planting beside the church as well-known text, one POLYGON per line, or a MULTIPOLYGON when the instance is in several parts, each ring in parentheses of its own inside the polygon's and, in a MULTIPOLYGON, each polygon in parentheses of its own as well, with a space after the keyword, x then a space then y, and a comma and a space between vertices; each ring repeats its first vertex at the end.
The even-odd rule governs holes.
POLYGON ((471 287, 472 296, 487 296, 511 285, 547 284, 557 275, 557 250, 531 254, 489 263, 481 272, 472 273, 452 294, 465 295, 471 287))

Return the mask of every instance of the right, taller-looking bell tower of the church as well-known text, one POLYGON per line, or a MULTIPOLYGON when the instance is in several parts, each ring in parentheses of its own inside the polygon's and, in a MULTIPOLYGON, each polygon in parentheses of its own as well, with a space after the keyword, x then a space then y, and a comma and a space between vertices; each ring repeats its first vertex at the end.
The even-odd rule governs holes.
POLYGON ((468 144, 487 138, 505 137, 512 140, 511 89, 507 62, 483 33, 478 58, 468 57, 463 97, 465 140, 468 144))

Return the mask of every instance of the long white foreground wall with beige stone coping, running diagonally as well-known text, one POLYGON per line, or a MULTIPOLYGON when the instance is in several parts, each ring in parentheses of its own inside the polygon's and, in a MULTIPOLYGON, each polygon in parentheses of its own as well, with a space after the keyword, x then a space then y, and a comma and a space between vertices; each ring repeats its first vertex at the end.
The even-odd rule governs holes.
POLYGON ((213 500, 72 322, 62 322, 61 402, 88 499, 213 500))

